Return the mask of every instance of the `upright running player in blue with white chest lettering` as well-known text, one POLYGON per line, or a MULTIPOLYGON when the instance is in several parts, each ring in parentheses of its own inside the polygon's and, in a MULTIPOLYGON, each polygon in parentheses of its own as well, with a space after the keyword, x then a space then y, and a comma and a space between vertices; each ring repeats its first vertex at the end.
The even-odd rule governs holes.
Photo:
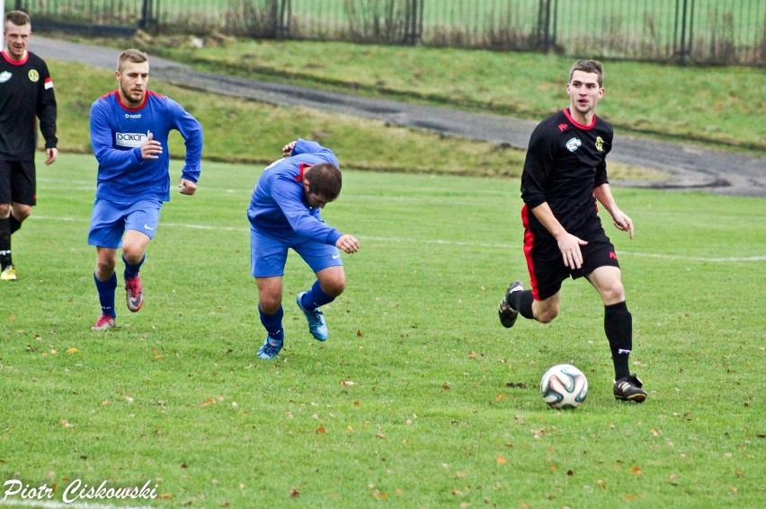
POLYGON ((178 189, 193 195, 200 178, 202 127, 172 99, 147 90, 149 62, 145 53, 128 49, 117 61, 118 88, 91 106, 91 144, 98 176, 88 244, 96 247, 94 280, 102 313, 94 330, 114 327, 117 313, 117 250, 125 263, 128 309, 144 303, 139 269, 154 238, 163 202, 170 199, 172 129, 183 136, 186 161, 178 189))

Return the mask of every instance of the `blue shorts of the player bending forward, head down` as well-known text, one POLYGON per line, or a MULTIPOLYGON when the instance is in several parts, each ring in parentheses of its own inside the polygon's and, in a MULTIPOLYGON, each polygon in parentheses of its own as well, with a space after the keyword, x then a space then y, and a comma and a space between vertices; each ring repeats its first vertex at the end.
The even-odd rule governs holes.
POLYGON ((341 252, 335 246, 302 237, 294 241, 275 239, 250 228, 250 274, 254 277, 284 276, 287 252, 292 248, 315 273, 323 268, 343 265, 341 252))

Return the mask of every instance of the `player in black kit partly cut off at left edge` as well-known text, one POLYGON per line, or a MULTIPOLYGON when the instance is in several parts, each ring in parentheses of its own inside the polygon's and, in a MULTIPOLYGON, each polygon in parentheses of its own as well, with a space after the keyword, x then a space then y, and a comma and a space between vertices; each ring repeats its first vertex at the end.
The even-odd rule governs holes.
POLYGON ((5 14, 5 49, 0 54, 0 281, 15 281, 11 234, 37 203, 34 153, 37 123, 45 139, 46 164, 58 157, 56 97, 48 66, 27 50, 30 17, 5 14))

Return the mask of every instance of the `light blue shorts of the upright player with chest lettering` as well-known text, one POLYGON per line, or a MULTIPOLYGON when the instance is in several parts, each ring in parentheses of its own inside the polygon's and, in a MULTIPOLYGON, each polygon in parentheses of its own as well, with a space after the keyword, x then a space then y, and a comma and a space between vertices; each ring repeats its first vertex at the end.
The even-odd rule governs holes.
POLYGON ((88 244, 116 250, 122 247, 122 235, 126 230, 135 230, 154 239, 161 208, 162 202, 156 199, 119 203, 96 198, 88 244))

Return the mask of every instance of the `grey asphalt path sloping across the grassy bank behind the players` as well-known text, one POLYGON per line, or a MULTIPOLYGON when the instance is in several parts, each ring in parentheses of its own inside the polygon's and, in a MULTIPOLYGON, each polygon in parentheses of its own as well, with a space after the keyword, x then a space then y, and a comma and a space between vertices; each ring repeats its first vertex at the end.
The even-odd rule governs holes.
MULTIPOLYGON (((30 50, 43 58, 82 62, 111 70, 115 68, 118 56, 118 51, 113 48, 50 39, 39 34, 32 37, 30 50)), ((248 101, 302 106, 374 118, 398 126, 427 129, 445 135, 507 144, 521 149, 527 148, 531 131, 537 125, 537 121, 491 113, 422 106, 204 73, 159 57, 150 57, 150 64, 151 75, 155 79, 193 90, 248 101)), ((670 176, 669 180, 624 183, 634 187, 701 189, 732 196, 766 197, 766 154, 759 157, 615 133, 610 161, 651 168, 670 176)))

